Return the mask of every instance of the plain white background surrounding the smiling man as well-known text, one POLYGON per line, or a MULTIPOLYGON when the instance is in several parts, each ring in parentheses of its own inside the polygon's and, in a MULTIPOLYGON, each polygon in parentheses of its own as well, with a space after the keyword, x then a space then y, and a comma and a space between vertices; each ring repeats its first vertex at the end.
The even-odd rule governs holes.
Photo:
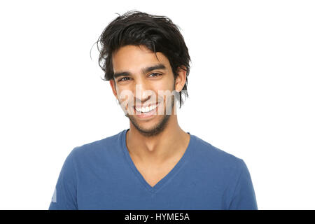
POLYGON ((69 152, 129 127, 92 45, 132 9, 186 40, 183 130, 246 162, 258 209, 315 209, 314 1, 169 0, 1 1, 0 209, 48 209, 69 152))

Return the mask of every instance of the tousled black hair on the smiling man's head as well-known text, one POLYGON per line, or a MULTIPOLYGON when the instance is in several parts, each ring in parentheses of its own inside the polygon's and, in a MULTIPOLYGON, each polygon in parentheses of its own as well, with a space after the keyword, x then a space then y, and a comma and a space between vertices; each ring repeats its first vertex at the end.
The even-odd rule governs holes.
POLYGON ((178 76, 179 67, 186 71, 186 83, 179 94, 181 108, 182 95, 188 97, 187 84, 191 60, 184 38, 172 20, 165 16, 130 10, 110 22, 96 43, 99 50, 99 66, 105 73, 104 80, 113 79, 112 55, 125 45, 145 45, 155 52, 155 55, 156 52, 162 52, 169 59, 174 80, 178 76))

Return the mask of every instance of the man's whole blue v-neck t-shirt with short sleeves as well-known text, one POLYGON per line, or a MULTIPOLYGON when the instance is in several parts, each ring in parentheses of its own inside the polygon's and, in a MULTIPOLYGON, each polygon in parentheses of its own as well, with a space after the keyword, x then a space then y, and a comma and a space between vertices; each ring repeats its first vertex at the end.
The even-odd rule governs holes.
POLYGON ((152 187, 130 157, 126 132, 73 148, 49 209, 258 209, 243 160, 187 132, 181 160, 152 187))

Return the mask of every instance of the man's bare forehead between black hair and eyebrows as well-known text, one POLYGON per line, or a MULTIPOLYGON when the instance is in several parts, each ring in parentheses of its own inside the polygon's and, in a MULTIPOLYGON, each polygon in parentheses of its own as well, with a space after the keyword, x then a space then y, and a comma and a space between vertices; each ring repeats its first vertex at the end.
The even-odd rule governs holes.
POLYGON ((161 52, 155 53, 144 45, 125 45, 113 54, 113 71, 140 71, 145 66, 162 63, 171 69, 169 60, 161 52), (158 59, 156 58, 158 57, 158 59))

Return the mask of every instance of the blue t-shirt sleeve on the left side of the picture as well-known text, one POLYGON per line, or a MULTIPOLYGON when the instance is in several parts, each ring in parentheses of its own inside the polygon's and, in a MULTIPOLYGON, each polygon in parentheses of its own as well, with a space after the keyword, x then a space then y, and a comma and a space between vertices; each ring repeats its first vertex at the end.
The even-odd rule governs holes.
MULTIPOLYGON (((76 149, 76 148, 74 148, 76 149)), ((67 156, 52 195, 49 210, 76 210, 77 173, 73 161, 73 151, 67 156)))

